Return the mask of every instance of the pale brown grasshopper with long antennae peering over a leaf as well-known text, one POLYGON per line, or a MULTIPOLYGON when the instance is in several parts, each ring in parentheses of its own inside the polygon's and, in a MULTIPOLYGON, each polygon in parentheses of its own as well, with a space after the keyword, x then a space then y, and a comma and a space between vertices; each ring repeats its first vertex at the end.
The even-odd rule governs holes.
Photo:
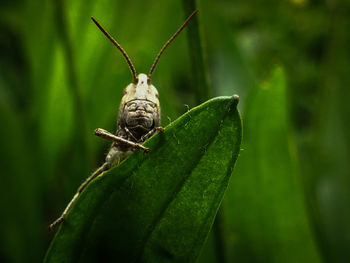
POLYGON ((175 34, 164 44, 156 56, 148 75, 143 73, 136 75, 135 67, 124 49, 93 17, 91 17, 92 21, 102 33, 122 53, 129 66, 133 80, 123 91, 123 96, 119 106, 116 134, 113 135, 103 129, 95 130, 95 135, 112 141, 105 162, 82 183, 62 215, 49 226, 50 230, 64 221, 67 213, 73 207, 80 193, 94 178, 113 166, 118 165, 135 149, 141 149, 145 152, 149 151, 148 148, 142 146, 140 143, 150 138, 157 131, 163 130, 163 128, 160 127, 159 94, 157 89, 151 84, 152 74, 165 49, 197 13, 198 10, 195 10, 185 20, 182 26, 179 27, 175 34))

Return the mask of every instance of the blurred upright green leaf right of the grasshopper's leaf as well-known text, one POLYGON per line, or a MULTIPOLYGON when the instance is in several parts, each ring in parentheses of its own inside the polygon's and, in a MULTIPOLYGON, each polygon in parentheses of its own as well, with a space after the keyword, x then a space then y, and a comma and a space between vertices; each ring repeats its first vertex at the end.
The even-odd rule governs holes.
POLYGON ((225 196, 227 262, 319 262, 288 129, 281 68, 245 109, 243 151, 225 196))

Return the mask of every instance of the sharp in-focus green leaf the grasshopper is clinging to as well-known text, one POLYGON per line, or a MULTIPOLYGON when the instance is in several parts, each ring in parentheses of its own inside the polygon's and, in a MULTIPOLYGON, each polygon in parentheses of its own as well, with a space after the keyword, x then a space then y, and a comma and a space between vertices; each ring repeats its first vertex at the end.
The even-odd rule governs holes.
POLYGON ((193 262, 208 235, 241 141, 238 99, 192 109, 96 178, 53 240, 46 262, 193 262))

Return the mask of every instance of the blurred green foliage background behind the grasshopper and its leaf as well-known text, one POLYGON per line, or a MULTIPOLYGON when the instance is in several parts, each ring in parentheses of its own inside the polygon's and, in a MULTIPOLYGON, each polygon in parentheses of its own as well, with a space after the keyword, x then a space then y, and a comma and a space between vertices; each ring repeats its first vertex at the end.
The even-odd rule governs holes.
MULTIPOLYGON (((200 262, 350 262, 350 3, 198 1, 210 97, 244 142, 200 262)), ((2 0, 0 262, 40 262, 47 226, 101 164, 129 69, 147 73, 181 1, 2 0)), ((200 101, 186 34, 153 75, 162 125, 200 101)), ((195 66, 195 65, 194 65, 195 66)), ((203 131, 205 132, 205 131, 203 131)))

